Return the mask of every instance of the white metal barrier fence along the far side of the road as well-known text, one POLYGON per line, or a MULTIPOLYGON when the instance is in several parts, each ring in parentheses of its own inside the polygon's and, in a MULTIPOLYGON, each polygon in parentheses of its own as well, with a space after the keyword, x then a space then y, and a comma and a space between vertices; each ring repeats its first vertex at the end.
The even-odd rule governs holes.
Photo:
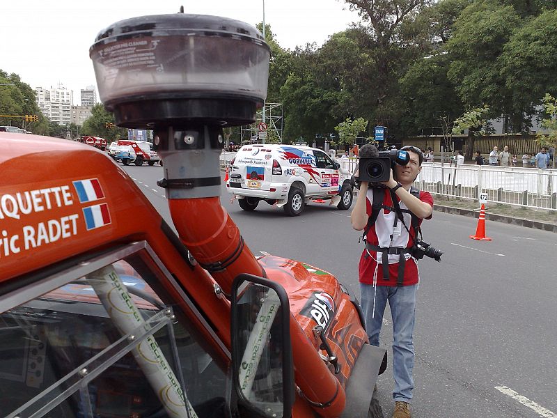
MULTIPOLYGON (((221 168, 230 164, 235 153, 221 154, 221 168)), ((338 158, 340 167, 350 173, 358 160, 338 158)), ((557 170, 528 167, 493 167, 462 164, 457 167, 439 162, 424 162, 416 187, 432 194, 557 210, 557 170)))

